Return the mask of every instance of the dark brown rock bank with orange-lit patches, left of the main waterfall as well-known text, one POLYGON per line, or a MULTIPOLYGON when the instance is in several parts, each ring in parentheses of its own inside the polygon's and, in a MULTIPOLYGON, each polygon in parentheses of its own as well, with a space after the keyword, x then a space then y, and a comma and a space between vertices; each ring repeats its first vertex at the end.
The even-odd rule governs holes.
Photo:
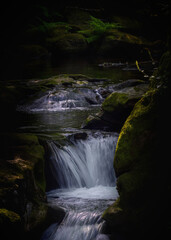
POLYGON ((1 133, 0 167, 1 234, 25 238, 22 234, 38 229, 47 213, 44 149, 38 138, 1 133))

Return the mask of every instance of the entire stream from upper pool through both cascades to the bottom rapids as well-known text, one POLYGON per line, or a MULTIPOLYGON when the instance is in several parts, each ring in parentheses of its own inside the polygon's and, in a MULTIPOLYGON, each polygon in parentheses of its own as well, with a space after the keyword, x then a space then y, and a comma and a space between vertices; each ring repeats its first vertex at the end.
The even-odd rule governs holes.
MULTIPOLYGON (((100 110, 104 90, 112 92, 119 81, 139 77, 127 64, 113 66, 96 66, 94 71, 97 78, 111 73, 109 83, 103 80, 75 88, 56 87, 34 102, 18 106, 18 130, 46 139, 48 204, 65 211, 62 222, 52 224, 41 240, 110 239, 102 213, 118 197, 113 169, 118 133, 82 130, 81 125, 100 110)), ((87 71, 81 67, 79 73, 91 75, 89 65, 87 71)), ((63 71, 68 69, 73 73, 78 65, 73 68, 72 63, 63 71)))

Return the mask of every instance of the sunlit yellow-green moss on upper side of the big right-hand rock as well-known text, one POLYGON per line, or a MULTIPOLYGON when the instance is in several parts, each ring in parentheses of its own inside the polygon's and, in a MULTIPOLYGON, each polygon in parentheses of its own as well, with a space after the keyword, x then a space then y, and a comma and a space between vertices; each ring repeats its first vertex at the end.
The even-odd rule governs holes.
POLYGON ((135 105, 121 130, 115 155, 115 169, 118 175, 129 170, 134 161, 141 158, 139 152, 142 149, 146 147, 149 150, 151 146, 150 138, 153 137, 152 131, 156 125, 156 113, 153 109, 153 95, 156 91, 149 91, 135 105))

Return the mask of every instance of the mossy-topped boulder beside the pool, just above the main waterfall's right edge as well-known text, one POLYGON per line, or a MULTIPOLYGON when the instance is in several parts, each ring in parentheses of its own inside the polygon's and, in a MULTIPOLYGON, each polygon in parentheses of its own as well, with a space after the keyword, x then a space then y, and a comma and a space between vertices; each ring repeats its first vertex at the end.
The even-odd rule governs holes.
POLYGON ((96 116, 89 116, 83 128, 120 131, 135 103, 147 89, 148 84, 139 80, 132 80, 132 84, 131 80, 117 84, 114 92, 103 102, 102 111, 96 116))

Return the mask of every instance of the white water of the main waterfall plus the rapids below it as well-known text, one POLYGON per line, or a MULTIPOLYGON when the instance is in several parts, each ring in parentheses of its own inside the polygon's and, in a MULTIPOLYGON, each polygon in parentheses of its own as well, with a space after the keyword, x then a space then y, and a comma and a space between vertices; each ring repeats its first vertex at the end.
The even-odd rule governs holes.
POLYGON ((113 170, 117 135, 96 133, 86 140, 59 147, 48 142, 51 174, 59 188, 47 193, 51 206, 66 215, 60 225, 48 228, 42 240, 108 240, 103 234, 103 211, 116 200, 113 170))

